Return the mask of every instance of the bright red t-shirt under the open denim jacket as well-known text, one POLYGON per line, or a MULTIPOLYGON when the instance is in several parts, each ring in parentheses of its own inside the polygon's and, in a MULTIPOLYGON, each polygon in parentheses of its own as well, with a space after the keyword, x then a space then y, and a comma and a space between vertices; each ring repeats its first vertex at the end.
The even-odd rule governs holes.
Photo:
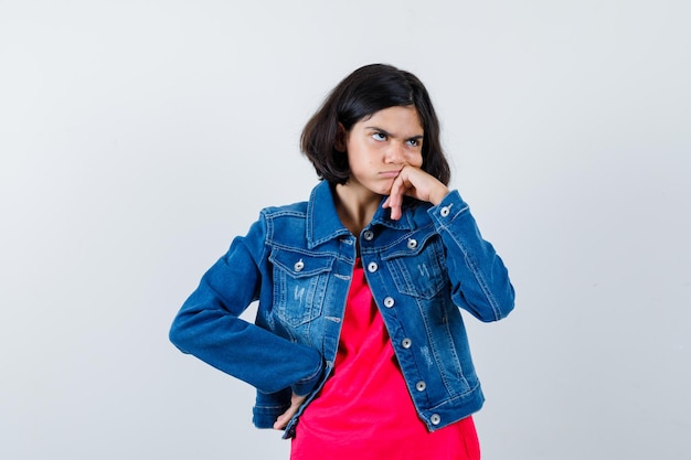
POLYGON ((305 409, 291 460, 478 460, 467 417, 429 432, 418 418, 358 260, 333 374, 305 409))

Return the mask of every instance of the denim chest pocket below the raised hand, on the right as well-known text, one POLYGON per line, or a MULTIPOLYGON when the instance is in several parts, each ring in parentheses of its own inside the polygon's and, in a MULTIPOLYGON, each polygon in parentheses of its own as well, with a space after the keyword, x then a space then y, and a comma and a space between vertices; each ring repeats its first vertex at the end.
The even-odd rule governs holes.
POLYGON ((446 286, 444 245, 434 236, 413 234, 382 255, 400 292, 432 299, 446 286))

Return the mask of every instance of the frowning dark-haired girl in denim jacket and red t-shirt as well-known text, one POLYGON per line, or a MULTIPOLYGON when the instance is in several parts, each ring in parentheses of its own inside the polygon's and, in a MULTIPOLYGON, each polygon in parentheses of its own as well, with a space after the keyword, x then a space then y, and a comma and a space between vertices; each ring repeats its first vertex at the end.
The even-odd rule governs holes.
POLYGON ((427 90, 369 65, 309 120, 309 201, 267 207, 184 302, 171 341, 257 388, 254 424, 291 459, 479 459, 483 403, 459 308, 513 288, 449 167, 427 90), (238 315, 258 300, 254 324, 238 315))

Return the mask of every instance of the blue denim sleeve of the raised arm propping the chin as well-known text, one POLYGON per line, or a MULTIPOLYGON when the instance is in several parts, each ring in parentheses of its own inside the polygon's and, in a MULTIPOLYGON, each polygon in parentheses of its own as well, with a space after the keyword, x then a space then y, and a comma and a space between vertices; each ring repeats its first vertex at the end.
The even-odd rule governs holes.
POLYGON ((446 248, 451 298, 481 321, 497 321, 513 310, 514 291, 501 258, 482 239, 468 204, 451 191, 427 213, 446 248))

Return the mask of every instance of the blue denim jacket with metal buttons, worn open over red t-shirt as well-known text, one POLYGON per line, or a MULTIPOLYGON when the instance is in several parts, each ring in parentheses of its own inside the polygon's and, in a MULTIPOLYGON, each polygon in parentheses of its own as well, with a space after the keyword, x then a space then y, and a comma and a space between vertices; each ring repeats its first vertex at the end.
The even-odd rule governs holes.
MULTIPOLYGON (((304 409, 333 368, 355 243, 326 181, 309 202, 263 210, 184 302, 171 341, 255 386, 254 424, 270 428, 291 392, 309 395, 304 409), (240 319, 257 300, 255 323, 240 319)), ((421 419, 435 430, 477 411, 485 398, 458 308, 499 320, 513 308, 513 287, 468 205, 454 191, 437 206, 411 201, 398 221, 380 207, 359 243, 421 419)))

